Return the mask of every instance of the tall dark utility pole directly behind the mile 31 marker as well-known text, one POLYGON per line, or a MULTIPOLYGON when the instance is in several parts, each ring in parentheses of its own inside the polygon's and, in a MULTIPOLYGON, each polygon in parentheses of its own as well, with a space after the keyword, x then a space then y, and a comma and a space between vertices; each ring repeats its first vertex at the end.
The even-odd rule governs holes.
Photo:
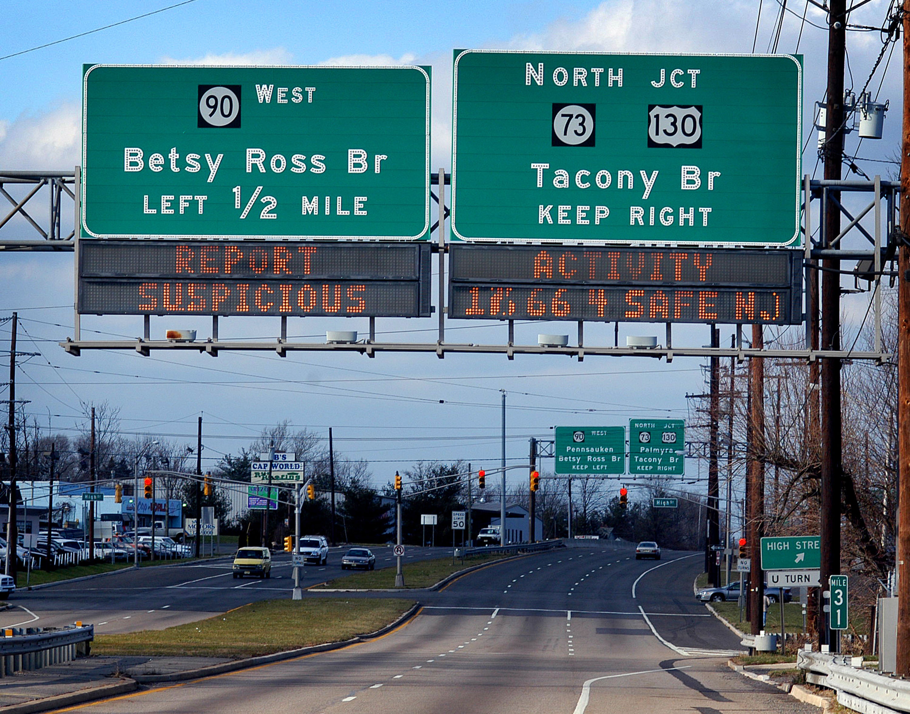
MULTIPOLYGON (((824 127, 824 179, 841 179, 844 157, 844 57, 846 56, 846 0, 828 5, 828 92, 824 127)), ((825 202, 823 248, 832 250, 832 241, 841 232, 840 194, 832 192, 825 202)), ((822 349, 839 350, 841 261, 822 260, 822 349)), ((841 362, 822 360, 822 460, 821 460, 821 541, 823 587, 828 577, 841 572, 841 362)), ((824 608, 818 608, 818 641, 832 646, 824 608)), ((837 642, 831 651, 837 651, 837 642)))

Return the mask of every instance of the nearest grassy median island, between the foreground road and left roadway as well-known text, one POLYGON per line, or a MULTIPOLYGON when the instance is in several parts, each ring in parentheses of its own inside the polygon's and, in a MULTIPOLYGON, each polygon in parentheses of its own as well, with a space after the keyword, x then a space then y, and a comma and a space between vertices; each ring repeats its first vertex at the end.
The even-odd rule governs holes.
POLYGON ((96 635, 92 654, 258 657, 375 632, 394 622, 413 604, 399 598, 263 600, 187 625, 96 635))

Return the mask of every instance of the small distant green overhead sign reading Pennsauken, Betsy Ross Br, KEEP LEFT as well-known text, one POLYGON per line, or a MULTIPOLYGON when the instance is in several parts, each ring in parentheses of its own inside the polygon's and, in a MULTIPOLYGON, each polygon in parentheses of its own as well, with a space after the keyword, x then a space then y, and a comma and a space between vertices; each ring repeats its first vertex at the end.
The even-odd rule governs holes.
POLYGON ((557 474, 625 473, 622 426, 557 426, 554 449, 557 474))

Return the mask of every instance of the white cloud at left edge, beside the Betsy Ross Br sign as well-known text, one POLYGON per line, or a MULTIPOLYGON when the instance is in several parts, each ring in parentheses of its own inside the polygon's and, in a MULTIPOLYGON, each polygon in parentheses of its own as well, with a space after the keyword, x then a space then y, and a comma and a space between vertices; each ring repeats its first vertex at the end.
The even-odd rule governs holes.
POLYGON ((0 166, 18 170, 66 170, 79 163, 79 107, 61 104, 41 115, 0 122, 0 166))

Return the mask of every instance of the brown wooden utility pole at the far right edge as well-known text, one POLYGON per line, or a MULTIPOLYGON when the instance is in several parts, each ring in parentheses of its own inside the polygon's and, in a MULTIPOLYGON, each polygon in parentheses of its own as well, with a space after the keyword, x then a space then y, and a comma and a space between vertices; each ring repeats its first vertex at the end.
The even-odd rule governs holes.
POLYGON ((910 0, 904 10, 904 124, 901 156, 901 230, 897 250, 897 651, 895 675, 910 675, 910 0))

